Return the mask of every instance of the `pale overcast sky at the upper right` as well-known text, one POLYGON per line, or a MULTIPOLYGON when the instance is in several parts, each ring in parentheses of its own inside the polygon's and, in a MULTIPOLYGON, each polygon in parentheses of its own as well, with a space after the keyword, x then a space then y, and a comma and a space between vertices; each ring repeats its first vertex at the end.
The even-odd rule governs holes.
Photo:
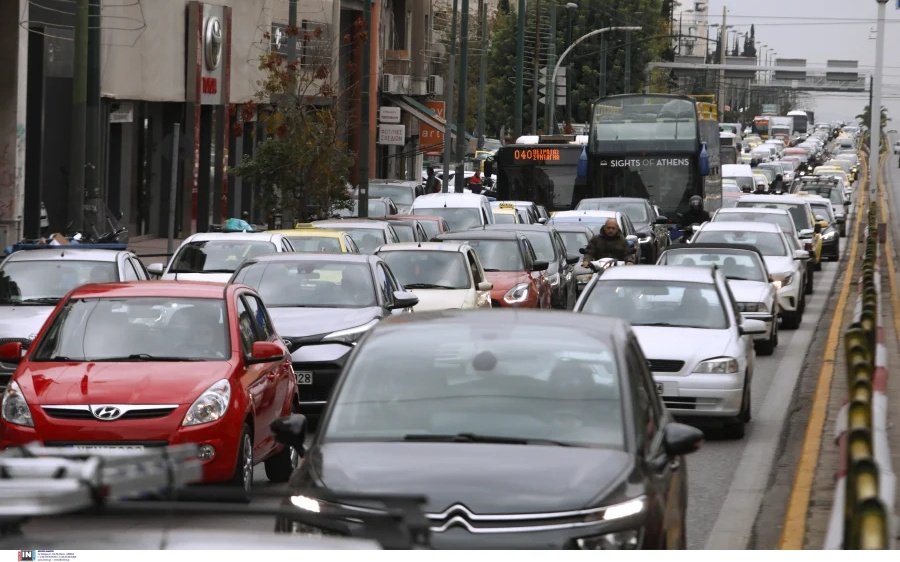
MULTIPOLYGON (((892 118, 888 129, 900 129, 898 1, 885 5, 882 105, 892 118)), ((728 10, 726 25, 749 32, 754 24, 756 41, 774 49, 778 58, 806 59, 809 66, 822 68, 829 59, 858 60, 861 74, 874 72, 876 0, 710 0, 710 23, 721 24, 723 6, 728 10)), ((868 92, 818 93, 810 99, 816 121, 852 121, 869 103, 868 92)))

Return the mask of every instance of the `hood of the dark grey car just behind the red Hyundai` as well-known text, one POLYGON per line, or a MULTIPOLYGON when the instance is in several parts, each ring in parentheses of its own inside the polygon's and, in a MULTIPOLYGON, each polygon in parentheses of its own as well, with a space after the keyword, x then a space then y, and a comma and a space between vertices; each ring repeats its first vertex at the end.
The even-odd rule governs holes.
POLYGON ((302 338, 355 328, 381 317, 381 308, 267 308, 275 331, 283 338, 302 338))

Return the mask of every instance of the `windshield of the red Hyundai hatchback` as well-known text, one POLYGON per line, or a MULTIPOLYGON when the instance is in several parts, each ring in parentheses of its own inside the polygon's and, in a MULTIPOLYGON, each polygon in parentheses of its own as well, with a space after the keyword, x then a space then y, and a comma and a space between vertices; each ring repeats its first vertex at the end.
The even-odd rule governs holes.
POLYGON ((53 319, 32 360, 222 361, 230 356, 221 299, 166 296, 72 299, 53 319))

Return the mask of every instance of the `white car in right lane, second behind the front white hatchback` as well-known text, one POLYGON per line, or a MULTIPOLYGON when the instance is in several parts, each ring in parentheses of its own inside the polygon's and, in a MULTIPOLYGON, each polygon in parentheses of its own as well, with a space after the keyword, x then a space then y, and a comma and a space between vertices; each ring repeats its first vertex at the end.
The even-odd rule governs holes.
POLYGON ((795 250, 781 228, 763 222, 708 222, 691 242, 754 246, 763 255, 778 289, 782 326, 800 326, 806 309, 802 264, 810 256, 806 250, 795 250))

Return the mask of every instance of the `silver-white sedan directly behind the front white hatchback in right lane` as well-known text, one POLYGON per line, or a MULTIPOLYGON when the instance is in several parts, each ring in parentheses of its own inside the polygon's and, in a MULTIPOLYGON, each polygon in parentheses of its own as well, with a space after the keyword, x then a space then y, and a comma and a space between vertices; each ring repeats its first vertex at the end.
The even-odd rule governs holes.
POLYGON ((741 316, 766 324, 766 333, 753 339, 756 352, 772 355, 778 345, 778 296, 766 262, 756 248, 738 244, 679 244, 663 252, 656 263, 721 269, 741 316))

